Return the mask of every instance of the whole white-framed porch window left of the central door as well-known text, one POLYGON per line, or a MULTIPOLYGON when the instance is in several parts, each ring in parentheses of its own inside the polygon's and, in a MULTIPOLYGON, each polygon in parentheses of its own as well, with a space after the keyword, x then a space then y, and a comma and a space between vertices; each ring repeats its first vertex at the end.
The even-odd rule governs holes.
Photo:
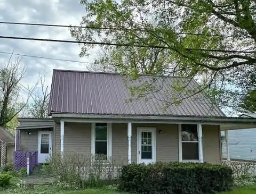
POLYGON ((99 159, 112 156, 111 123, 92 123, 91 153, 99 159))

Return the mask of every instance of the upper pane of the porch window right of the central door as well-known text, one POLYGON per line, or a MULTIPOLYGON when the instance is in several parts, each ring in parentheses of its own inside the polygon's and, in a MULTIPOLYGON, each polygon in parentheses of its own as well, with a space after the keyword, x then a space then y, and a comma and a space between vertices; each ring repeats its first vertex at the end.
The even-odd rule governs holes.
POLYGON ((198 141, 196 124, 182 124, 181 129, 182 141, 198 141))

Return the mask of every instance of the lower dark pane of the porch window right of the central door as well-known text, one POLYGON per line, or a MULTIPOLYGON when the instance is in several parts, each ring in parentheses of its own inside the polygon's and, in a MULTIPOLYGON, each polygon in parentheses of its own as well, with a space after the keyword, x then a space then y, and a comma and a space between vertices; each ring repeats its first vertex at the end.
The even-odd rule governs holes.
POLYGON ((199 159, 198 142, 182 142, 182 159, 199 159))

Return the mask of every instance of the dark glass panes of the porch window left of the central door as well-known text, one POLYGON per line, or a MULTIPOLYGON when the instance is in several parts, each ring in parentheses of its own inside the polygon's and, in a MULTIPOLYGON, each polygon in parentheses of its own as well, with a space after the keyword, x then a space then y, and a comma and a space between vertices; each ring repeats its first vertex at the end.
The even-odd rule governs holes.
POLYGON ((95 154, 108 155, 107 123, 95 124, 95 154))

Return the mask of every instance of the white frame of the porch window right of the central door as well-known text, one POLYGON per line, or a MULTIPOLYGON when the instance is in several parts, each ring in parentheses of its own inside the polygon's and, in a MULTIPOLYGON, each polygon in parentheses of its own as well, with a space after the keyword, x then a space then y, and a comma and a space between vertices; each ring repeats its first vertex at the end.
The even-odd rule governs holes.
MULTIPOLYGON (((195 123, 191 123, 191 124, 195 124, 195 123)), ((199 148, 199 138, 198 138, 198 126, 197 124, 197 141, 182 141, 182 124, 178 124, 178 131, 179 131, 179 162, 200 162, 199 161, 199 149, 198 149, 198 159, 182 159, 182 142, 184 143, 197 143, 198 144, 198 148, 199 148)))

